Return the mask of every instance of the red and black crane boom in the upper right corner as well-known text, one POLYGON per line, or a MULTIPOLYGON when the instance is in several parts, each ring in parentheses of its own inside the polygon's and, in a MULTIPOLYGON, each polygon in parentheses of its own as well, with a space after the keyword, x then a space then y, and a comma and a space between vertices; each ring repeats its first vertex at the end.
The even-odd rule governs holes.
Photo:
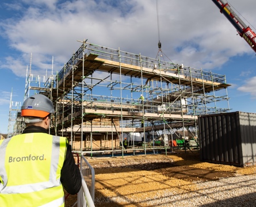
POLYGON ((230 5, 226 0, 212 0, 217 7, 219 7, 220 12, 227 17, 233 26, 235 26, 239 35, 243 37, 244 40, 250 45, 250 47, 256 52, 256 34, 251 30, 250 26, 244 24, 244 22, 236 15, 236 13, 231 9, 230 5))

